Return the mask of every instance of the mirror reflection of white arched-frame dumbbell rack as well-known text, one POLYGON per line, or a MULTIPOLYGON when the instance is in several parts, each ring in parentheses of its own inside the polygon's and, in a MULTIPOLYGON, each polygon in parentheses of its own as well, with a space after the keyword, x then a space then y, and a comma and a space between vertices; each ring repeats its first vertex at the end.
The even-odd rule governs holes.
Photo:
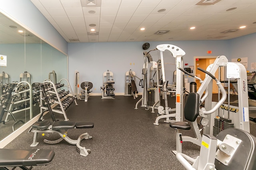
MULTIPOLYGON (((30 110, 30 119, 33 117, 33 101, 32 101, 32 86, 29 82, 19 82, 14 90, 12 95, 12 101, 8 111, 11 111, 12 114, 18 113, 25 110, 30 110)), ((10 112, 7 114, 5 121, 9 121, 8 117, 10 112)), ((26 120, 26 116, 25 116, 26 120)))

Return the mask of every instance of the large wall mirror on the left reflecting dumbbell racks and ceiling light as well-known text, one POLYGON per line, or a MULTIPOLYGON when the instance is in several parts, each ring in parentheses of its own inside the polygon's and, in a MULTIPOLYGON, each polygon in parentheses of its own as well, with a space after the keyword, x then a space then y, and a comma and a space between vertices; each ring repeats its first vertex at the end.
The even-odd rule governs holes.
POLYGON ((52 78, 53 70, 57 82, 68 78, 67 62, 66 55, 0 14, 0 141, 40 113, 39 104, 31 103, 31 85, 52 78))

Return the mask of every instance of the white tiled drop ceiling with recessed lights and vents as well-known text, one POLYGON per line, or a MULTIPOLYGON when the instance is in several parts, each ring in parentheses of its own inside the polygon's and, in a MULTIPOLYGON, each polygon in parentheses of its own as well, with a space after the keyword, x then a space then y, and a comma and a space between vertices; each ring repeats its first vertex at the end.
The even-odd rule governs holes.
POLYGON ((232 39, 256 32, 256 0, 214 1, 31 0, 68 43, 232 39))

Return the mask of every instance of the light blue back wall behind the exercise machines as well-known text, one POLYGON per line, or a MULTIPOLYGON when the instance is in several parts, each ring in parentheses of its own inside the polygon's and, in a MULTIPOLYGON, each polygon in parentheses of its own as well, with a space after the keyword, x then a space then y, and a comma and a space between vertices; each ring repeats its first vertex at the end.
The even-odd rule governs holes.
MULTIPOLYGON (((142 45, 144 42, 118 42, 118 43, 68 43, 69 56, 69 81, 74 87, 75 71, 80 72, 80 81, 90 81, 93 83, 93 93, 101 93, 100 87, 103 85, 103 72, 109 70, 114 74, 115 92, 124 93, 125 72, 133 70, 136 75, 142 78, 142 67, 144 56, 142 45), (95 89, 96 88, 96 89, 95 89)), ((194 66, 194 56, 218 56, 230 55, 228 41, 163 41, 149 42, 150 48, 155 49, 160 44, 172 44, 180 47, 186 52, 184 64, 194 66), (207 51, 212 54, 207 54, 207 51)), ((160 59, 158 51, 150 52, 154 61, 160 59)), ((175 58, 170 52, 164 52, 164 63, 175 64, 175 58)), ((166 80, 172 82, 175 65, 166 64, 166 80)), ((139 92, 142 88, 138 86, 139 92)))

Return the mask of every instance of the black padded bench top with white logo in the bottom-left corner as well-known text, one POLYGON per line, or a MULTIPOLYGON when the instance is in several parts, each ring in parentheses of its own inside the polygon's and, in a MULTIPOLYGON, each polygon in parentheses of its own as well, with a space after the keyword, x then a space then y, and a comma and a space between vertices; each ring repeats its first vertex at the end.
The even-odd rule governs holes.
POLYGON ((50 149, 0 149, 0 167, 47 165, 54 154, 50 149))

